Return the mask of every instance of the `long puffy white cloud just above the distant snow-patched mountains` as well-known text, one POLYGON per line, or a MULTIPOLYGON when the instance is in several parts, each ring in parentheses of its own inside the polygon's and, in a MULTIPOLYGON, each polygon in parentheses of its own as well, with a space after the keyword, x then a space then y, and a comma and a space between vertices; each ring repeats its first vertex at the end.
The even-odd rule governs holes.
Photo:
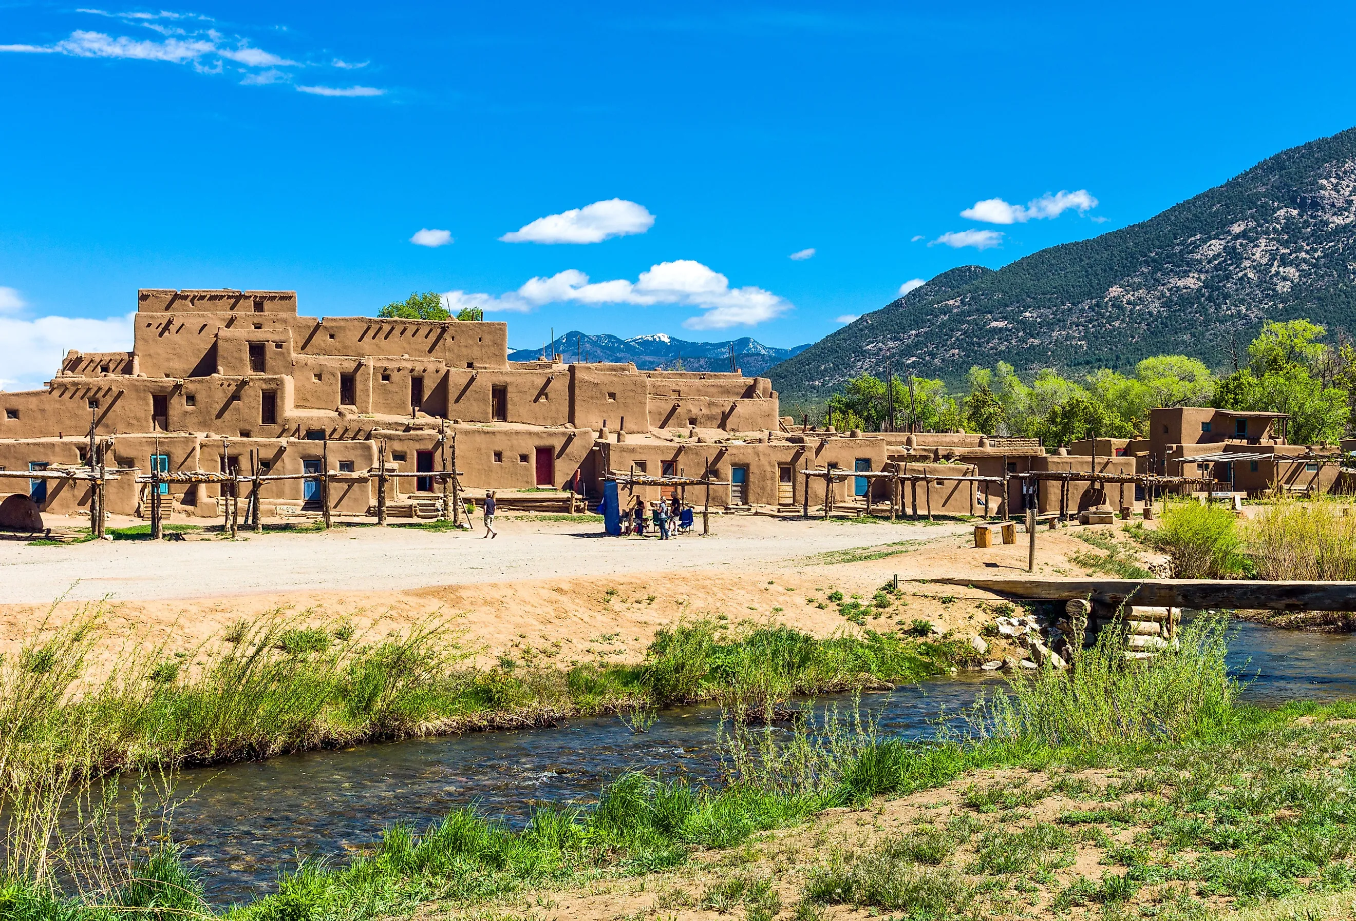
POLYGON ((791 309, 791 303, 772 291, 746 286, 730 287, 730 279, 698 261, 678 259, 659 263, 641 272, 635 280, 614 279, 590 282, 576 268, 567 268, 551 278, 530 278, 517 291, 499 297, 447 291, 443 294, 449 310, 480 307, 481 310, 526 313, 545 303, 629 303, 652 306, 669 303, 698 307, 704 313, 683 321, 687 329, 725 329, 751 326, 772 320, 791 309))

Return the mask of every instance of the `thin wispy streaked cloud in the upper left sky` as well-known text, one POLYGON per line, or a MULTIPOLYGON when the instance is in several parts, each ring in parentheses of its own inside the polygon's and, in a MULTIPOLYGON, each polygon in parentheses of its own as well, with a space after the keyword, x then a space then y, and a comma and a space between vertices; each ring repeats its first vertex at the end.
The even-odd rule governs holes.
MULTIPOLYGON (((354 69, 363 64, 348 64, 339 58, 330 62, 296 61, 264 50, 244 35, 226 35, 214 27, 210 16, 194 12, 118 12, 80 8, 79 14, 114 19, 130 28, 151 30, 159 38, 114 35, 106 31, 77 28, 66 38, 50 45, 0 45, 0 53, 61 54, 77 58, 127 61, 157 61, 193 66, 199 73, 237 74, 244 85, 293 83, 293 73, 279 68, 335 68, 354 69)), ((297 87, 319 96, 381 96, 385 89, 374 87, 297 87)))

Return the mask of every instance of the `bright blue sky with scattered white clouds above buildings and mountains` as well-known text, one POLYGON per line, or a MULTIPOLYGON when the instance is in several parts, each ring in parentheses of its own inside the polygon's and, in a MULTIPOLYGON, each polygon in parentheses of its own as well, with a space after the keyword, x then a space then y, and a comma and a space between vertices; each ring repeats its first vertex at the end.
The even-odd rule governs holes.
POLYGON ((1349 5, 942 7, 0 3, 0 386, 138 287, 795 345, 1356 123, 1349 5))

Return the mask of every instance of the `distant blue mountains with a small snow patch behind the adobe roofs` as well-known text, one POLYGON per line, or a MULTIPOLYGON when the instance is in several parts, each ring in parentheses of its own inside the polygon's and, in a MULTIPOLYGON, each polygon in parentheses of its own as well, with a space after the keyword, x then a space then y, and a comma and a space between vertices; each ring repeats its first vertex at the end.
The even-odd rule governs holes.
MULTIPOLYGON (((651 333, 633 339, 620 339, 609 333, 590 336, 570 330, 545 347, 546 356, 559 354, 567 362, 632 362, 643 371, 656 368, 685 371, 730 371, 731 352, 736 367, 749 377, 765 377, 765 371, 778 362, 796 355, 810 345, 774 348, 749 339, 724 343, 689 343, 664 333, 651 333)), ((519 348, 509 352, 510 362, 536 362, 542 348, 519 348)))

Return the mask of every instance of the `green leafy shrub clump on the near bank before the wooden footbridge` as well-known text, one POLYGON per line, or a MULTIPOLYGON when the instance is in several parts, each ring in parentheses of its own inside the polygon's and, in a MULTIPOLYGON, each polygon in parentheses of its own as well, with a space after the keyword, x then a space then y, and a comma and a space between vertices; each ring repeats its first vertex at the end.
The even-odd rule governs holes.
POLYGON ((1200 615, 1155 658, 1125 658, 1117 624, 1092 649, 1070 650, 1071 668, 1014 676, 976 706, 978 734, 1047 746, 1178 741, 1226 725, 1238 683, 1224 665, 1227 618, 1200 615))

